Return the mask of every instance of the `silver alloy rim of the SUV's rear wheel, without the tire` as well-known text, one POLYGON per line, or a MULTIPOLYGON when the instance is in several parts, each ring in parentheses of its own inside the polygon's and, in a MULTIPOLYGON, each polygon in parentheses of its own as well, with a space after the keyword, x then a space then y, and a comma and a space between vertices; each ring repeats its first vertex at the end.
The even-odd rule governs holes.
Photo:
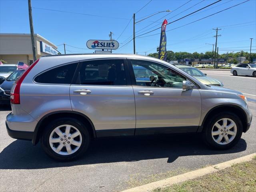
POLYGON ((82 134, 72 125, 61 125, 52 130, 49 143, 54 152, 60 155, 70 155, 80 148, 82 134))

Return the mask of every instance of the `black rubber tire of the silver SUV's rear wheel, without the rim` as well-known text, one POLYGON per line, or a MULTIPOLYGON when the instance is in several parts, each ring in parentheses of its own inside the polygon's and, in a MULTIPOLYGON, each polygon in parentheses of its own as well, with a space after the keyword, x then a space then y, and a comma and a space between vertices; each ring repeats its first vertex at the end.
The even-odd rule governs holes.
POLYGON ((86 150, 88 149, 88 146, 90 144, 90 134, 89 134, 89 131, 86 128, 86 126, 79 120, 74 119, 74 118, 58 118, 58 119, 50 122, 48 124, 48 126, 46 126, 44 132, 41 135, 40 141, 41 141, 41 145, 42 145, 44 152, 46 152, 46 154, 48 156, 50 156, 51 158, 54 158, 55 160, 58 160, 58 161, 72 161, 72 160, 77 159, 78 157, 80 157, 82 154, 84 154, 86 152, 86 150), (64 125, 64 124, 68 124, 68 125, 76 127, 82 135, 81 146, 78 148, 78 150, 76 152, 69 154, 69 155, 58 154, 51 148, 50 142, 49 142, 50 134, 54 130, 54 128, 64 125))

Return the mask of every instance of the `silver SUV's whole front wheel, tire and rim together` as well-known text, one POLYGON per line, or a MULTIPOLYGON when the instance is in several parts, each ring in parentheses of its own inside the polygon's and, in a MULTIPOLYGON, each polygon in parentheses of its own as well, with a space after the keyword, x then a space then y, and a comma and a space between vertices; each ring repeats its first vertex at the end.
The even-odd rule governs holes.
POLYGON ((206 123, 203 136, 210 147, 219 150, 229 149, 242 136, 242 122, 231 112, 216 114, 206 123))

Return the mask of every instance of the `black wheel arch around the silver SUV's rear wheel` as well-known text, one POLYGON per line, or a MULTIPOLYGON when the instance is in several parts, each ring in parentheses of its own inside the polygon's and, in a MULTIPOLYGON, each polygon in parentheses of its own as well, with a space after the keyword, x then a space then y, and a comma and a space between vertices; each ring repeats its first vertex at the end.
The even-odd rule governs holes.
POLYGON ((96 138, 96 131, 95 131, 94 125, 90 120, 90 118, 88 118, 88 116, 75 111, 56 111, 56 112, 51 112, 49 114, 46 114, 38 121, 36 128, 34 130, 32 144, 36 145, 38 143, 43 131, 43 127, 46 125, 47 122, 60 117, 71 117, 71 118, 76 118, 82 121, 84 124, 86 124, 89 127, 88 131, 90 132, 90 136, 92 138, 96 138))

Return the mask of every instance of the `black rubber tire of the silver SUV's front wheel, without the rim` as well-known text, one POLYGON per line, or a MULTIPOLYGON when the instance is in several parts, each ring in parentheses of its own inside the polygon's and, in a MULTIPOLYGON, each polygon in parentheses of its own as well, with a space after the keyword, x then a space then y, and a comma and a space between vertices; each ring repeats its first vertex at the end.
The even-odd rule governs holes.
POLYGON ((242 130, 243 130, 242 122, 236 114, 232 112, 221 112, 219 114, 212 116, 212 118, 210 118, 210 120, 208 120, 208 122, 205 123, 202 135, 203 135, 204 142, 208 146, 210 146, 210 148, 217 149, 217 150, 226 150, 235 146, 235 144, 240 140, 242 136, 242 130), (229 118, 233 120, 237 128, 235 138, 228 144, 218 144, 212 138, 212 128, 214 124, 222 118, 229 118))

